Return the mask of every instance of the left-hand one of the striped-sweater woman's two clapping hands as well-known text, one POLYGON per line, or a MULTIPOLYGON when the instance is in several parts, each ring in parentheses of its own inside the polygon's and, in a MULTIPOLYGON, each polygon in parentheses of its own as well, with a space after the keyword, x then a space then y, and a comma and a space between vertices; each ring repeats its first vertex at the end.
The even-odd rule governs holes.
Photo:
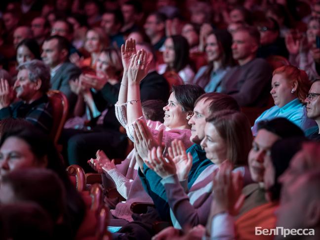
POLYGON ((152 150, 148 152, 148 160, 145 160, 145 163, 161 178, 173 175, 177 171, 173 160, 169 156, 167 156, 166 158, 162 156, 161 147, 152 148, 152 150))

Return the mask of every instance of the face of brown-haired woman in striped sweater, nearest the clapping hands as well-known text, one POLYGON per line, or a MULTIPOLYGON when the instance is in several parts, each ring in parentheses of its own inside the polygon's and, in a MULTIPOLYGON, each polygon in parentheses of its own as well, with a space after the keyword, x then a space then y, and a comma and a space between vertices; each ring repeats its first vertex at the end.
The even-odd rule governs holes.
POLYGON ((205 151, 205 157, 214 164, 222 163, 227 159, 226 142, 211 122, 205 123, 204 134, 200 145, 205 151))

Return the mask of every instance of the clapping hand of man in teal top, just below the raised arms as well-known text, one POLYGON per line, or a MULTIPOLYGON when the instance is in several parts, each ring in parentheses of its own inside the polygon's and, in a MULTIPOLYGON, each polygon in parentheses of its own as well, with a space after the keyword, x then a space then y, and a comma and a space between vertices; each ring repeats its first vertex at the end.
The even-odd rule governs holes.
POLYGON ((136 151, 142 159, 147 159, 149 150, 151 150, 153 147, 161 146, 163 129, 159 131, 157 140, 152 135, 144 120, 136 120, 133 123, 133 129, 133 138, 136 151))

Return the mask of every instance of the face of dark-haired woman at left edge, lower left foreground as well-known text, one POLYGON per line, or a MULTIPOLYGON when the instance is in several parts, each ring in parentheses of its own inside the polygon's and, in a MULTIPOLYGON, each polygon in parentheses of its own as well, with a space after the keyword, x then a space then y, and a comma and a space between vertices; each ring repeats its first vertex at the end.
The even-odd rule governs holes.
POLYGON ((0 178, 14 170, 29 168, 37 164, 36 156, 24 140, 8 137, 0 147, 0 178))

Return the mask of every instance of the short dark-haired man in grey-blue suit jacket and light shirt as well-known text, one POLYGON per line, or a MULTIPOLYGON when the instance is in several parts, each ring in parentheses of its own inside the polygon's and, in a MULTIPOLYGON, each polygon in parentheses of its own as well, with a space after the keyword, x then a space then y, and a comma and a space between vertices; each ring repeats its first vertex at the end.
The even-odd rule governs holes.
POLYGON ((81 70, 68 62, 69 41, 61 36, 51 36, 42 45, 42 60, 50 68, 51 89, 62 91, 68 98, 70 109, 77 96, 71 91, 69 81, 79 77, 81 70))

